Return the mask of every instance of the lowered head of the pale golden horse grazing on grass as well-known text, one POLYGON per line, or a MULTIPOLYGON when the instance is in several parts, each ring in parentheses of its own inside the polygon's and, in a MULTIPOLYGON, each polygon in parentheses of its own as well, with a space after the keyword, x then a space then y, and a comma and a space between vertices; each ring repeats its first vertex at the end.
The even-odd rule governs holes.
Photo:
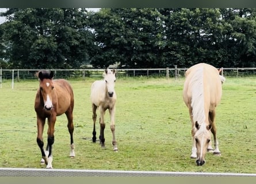
POLYGON ((198 124, 195 123, 196 132, 194 134, 194 141, 196 142, 197 149, 197 166, 202 166, 205 163, 205 154, 207 153, 207 148, 209 142, 211 141, 211 128, 212 125, 198 124))

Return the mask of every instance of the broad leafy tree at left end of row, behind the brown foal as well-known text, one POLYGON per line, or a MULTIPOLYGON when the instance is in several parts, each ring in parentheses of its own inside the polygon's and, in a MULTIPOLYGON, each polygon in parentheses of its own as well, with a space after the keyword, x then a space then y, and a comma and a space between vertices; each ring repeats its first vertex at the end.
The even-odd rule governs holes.
POLYGON ((78 68, 90 62, 95 45, 87 10, 9 9, 3 16, 8 20, 3 38, 10 67, 78 68))

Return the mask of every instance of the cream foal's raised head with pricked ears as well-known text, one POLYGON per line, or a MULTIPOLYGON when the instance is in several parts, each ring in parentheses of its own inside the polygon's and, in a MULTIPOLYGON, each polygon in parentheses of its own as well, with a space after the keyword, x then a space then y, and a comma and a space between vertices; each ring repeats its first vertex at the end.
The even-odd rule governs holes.
POLYGON ((116 82, 116 71, 110 70, 109 68, 106 68, 104 73, 104 79, 106 82, 106 90, 108 91, 109 97, 113 97, 114 95, 114 83, 116 82))

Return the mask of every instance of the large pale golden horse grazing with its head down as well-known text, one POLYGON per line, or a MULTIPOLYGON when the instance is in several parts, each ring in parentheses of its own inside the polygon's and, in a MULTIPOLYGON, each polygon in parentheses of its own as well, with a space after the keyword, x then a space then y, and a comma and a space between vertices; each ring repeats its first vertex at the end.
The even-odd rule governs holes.
POLYGON ((185 74, 183 99, 189 109, 193 137, 190 157, 197 159, 198 166, 205 163, 206 152, 213 150, 211 132, 215 145, 213 154, 220 155, 216 137, 215 108, 222 95, 221 82, 224 82, 224 77, 219 75, 217 68, 205 63, 190 67, 185 74))

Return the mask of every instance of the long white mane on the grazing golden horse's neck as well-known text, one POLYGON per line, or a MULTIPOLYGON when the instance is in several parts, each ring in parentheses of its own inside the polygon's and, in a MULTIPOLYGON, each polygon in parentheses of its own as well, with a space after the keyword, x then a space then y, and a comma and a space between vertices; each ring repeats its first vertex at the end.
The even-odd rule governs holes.
POLYGON ((204 112, 204 67, 200 67, 195 72, 194 76, 190 81, 192 85, 192 114, 193 121, 201 124, 205 122, 205 112, 204 112))

